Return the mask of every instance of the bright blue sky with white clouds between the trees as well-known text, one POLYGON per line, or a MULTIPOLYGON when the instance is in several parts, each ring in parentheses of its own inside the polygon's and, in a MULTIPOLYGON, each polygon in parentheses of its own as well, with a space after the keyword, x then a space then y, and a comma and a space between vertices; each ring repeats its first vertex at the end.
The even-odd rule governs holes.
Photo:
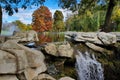
MULTIPOLYGON (((68 12, 66 10, 61 9, 60 7, 58 7, 58 4, 56 2, 56 0, 46 0, 46 2, 44 3, 44 6, 47 6, 49 8, 49 10, 52 12, 52 15, 54 14, 54 12, 56 10, 60 10, 63 12, 63 15, 66 17, 66 15, 68 12)), ((15 20, 20 20, 25 24, 31 24, 32 22, 32 13, 37 9, 38 7, 36 6, 32 6, 32 8, 28 8, 28 9, 19 9, 18 13, 14 13, 12 16, 9 16, 7 13, 5 13, 5 11, 3 10, 3 23, 4 22, 13 22, 15 20)), ((65 18, 64 18, 65 20, 65 18)))

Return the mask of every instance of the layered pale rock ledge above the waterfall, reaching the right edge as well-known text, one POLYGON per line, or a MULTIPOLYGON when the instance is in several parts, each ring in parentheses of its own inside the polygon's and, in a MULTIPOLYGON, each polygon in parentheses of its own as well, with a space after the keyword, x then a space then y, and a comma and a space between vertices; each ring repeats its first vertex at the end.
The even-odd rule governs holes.
POLYGON ((65 37, 72 42, 85 43, 94 51, 110 53, 106 47, 116 46, 120 41, 120 32, 66 32, 65 37))

